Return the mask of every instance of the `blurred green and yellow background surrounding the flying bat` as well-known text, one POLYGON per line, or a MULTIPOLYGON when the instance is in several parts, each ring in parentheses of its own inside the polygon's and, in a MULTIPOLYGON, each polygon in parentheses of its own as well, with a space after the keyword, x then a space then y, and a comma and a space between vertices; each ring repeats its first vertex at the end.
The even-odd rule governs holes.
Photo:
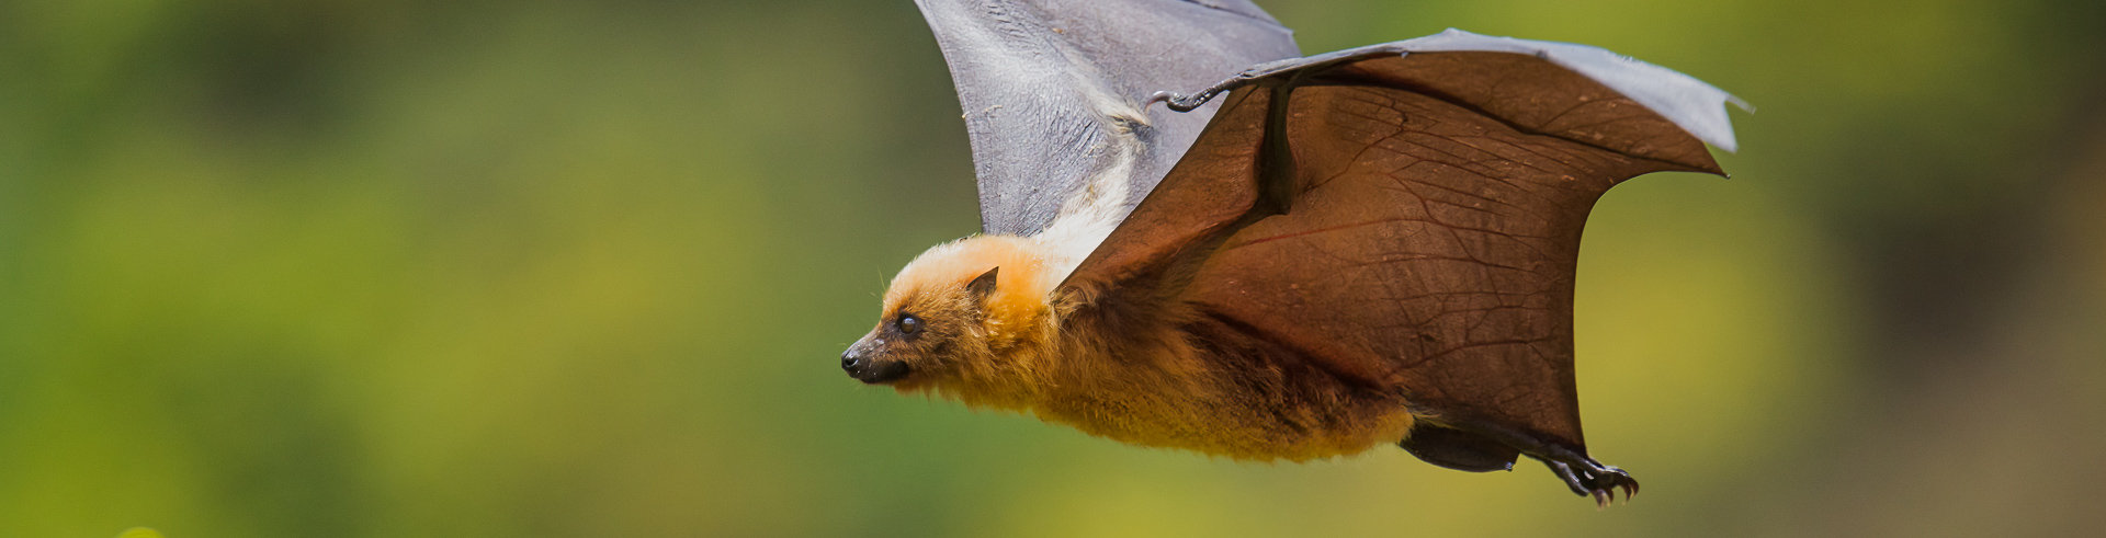
POLYGON ((906 0, 0 2, 0 536, 2106 530, 2106 2, 1268 0, 1704 78, 1735 177, 1596 208, 1596 513, 1537 464, 1238 464, 840 374, 973 233, 906 0))

